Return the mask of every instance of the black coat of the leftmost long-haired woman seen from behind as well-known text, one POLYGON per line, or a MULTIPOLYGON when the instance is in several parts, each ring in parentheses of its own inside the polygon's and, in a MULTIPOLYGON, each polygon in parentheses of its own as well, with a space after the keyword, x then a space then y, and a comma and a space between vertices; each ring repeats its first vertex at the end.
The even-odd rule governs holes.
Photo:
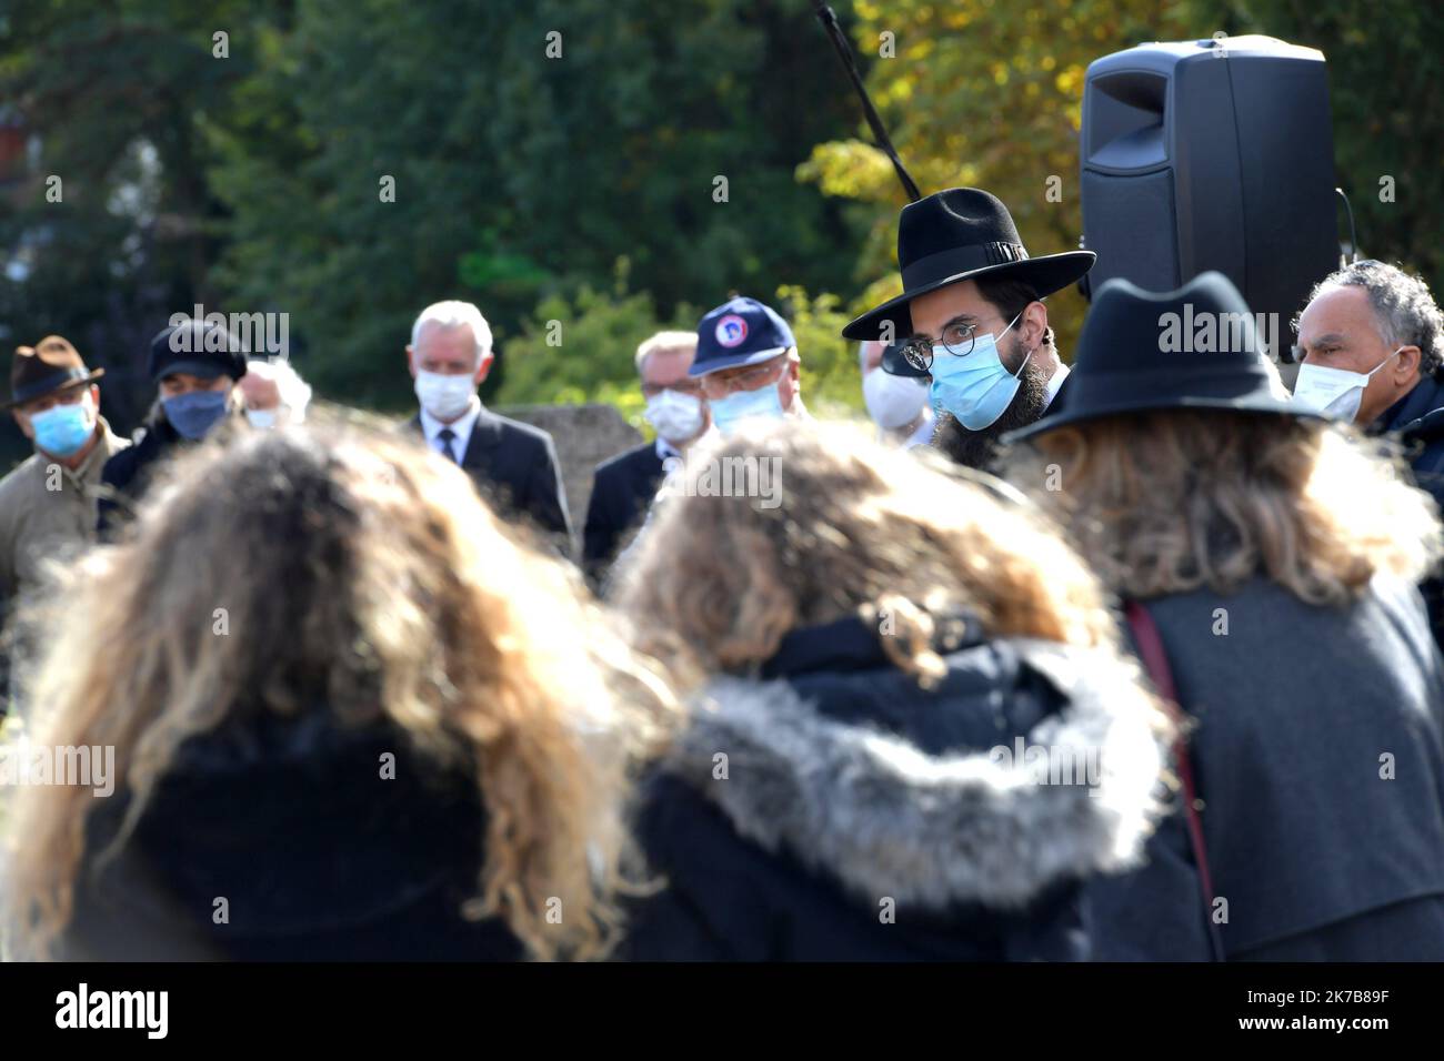
POLYGON ((475 781, 422 759, 394 729, 347 730, 318 712, 191 738, 114 862, 95 855, 129 795, 95 804, 65 957, 521 957, 501 922, 459 912, 482 859, 475 781), (394 780, 381 777, 384 754, 394 780))

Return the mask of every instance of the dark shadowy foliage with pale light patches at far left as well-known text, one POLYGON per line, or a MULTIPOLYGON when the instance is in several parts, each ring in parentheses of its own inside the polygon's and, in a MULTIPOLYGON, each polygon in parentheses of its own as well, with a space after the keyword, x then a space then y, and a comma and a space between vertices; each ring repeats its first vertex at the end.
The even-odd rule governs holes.
MULTIPOLYGON (((48 332, 104 365, 107 410, 143 411, 127 387, 166 316, 209 300, 222 205, 206 183, 204 127, 227 123, 254 69, 254 32, 280 0, 7 0, 0 100, 39 166, 0 185, 0 342, 48 332), (212 35, 228 30, 230 58, 212 35), (55 185, 49 178, 59 178, 55 185), (51 189, 59 201, 48 198, 51 189)), ((12 440, 19 440, 14 433, 12 440)))

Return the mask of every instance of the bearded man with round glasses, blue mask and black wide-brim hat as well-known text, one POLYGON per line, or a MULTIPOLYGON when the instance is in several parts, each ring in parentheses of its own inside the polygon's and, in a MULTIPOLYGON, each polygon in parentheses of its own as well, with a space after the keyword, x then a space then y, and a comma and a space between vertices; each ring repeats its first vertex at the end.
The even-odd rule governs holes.
POLYGON ((986 468, 1005 432, 1060 401, 1069 370, 1043 299, 1080 280, 1095 258, 1092 251, 1028 257, 996 196, 949 188, 902 208, 902 294, 842 333, 900 344, 882 367, 931 380, 933 445, 957 463, 986 468))

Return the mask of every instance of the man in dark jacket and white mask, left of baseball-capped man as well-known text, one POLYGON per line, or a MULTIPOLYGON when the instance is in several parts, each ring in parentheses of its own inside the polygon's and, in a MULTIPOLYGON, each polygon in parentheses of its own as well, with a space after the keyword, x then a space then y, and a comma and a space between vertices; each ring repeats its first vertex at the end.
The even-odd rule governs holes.
POLYGON ((601 582, 624 537, 645 517, 667 471, 664 462, 680 460, 710 427, 702 385, 687 377, 696 351, 696 332, 658 332, 637 348, 637 374, 647 397, 644 416, 657 429, 657 440, 596 468, 582 531, 582 560, 593 583, 601 582))

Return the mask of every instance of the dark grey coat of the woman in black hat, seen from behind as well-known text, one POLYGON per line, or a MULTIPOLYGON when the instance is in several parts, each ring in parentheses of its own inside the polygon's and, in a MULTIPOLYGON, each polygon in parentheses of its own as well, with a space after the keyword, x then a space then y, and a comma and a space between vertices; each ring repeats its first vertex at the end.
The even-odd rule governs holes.
MULTIPOLYGON (((1444 960, 1444 677, 1414 588, 1380 576, 1336 609, 1256 579, 1144 605, 1197 720, 1226 956, 1444 960)), ((1147 889, 1132 909, 1145 934, 1173 918, 1147 889)))

